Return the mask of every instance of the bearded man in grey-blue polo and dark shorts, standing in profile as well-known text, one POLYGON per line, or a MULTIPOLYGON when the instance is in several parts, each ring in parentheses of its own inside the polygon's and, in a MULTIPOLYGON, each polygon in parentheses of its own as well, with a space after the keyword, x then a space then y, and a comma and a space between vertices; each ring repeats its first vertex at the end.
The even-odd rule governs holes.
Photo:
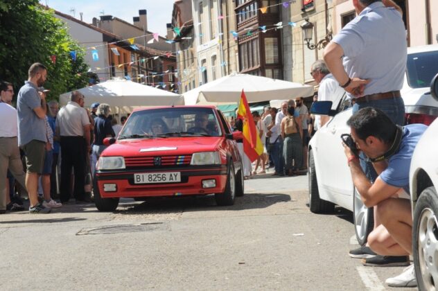
POLYGON ((47 69, 36 62, 30 66, 28 80, 18 92, 18 143, 26 153, 26 189, 30 213, 49 213, 50 208, 38 202, 38 175, 44 166, 46 137, 46 96, 37 88, 44 85, 47 69))

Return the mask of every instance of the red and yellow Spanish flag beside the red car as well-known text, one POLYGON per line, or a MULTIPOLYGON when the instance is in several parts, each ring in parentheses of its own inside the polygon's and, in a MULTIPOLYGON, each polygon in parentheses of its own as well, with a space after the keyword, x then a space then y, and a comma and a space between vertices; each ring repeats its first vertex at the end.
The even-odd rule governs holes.
POLYGON ((255 161, 261 154, 263 154, 263 143, 261 143, 259 130, 257 130, 256 124, 254 123, 243 90, 242 95, 240 96, 237 118, 240 118, 243 121, 243 152, 249 157, 249 160, 255 161))

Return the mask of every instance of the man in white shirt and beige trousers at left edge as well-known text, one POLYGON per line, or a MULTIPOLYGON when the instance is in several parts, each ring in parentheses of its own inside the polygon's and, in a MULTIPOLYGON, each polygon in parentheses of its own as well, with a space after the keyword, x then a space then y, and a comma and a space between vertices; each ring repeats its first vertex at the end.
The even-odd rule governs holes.
POLYGON ((23 187, 26 177, 18 148, 17 109, 11 106, 12 96, 12 84, 0 82, 0 214, 6 213, 8 168, 23 187))

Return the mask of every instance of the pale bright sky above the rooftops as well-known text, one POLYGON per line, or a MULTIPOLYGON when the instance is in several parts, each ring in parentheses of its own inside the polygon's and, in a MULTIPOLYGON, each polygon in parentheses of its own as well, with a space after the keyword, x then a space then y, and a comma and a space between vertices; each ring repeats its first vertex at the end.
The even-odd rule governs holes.
POLYGON ((112 15, 132 24, 132 17, 139 16, 139 10, 148 11, 148 30, 166 37, 166 24, 171 22, 173 2, 175 0, 40 0, 40 3, 73 16, 70 10, 76 10, 77 19, 83 12, 83 21, 91 24, 93 17, 112 15), (121 5, 123 3, 123 5, 121 5))

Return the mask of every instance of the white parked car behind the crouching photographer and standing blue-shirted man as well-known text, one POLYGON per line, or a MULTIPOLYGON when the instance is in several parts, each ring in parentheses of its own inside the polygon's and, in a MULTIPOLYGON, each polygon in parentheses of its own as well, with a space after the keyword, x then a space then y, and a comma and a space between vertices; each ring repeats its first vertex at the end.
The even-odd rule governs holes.
MULTIPOLYGON (((438 101, 430 96, 429 89, 430 81, 438 73, 437 64, 438 45, 408 48, 407 71, 401 90, 408 123, 429 125, 438 116, 438 101)), ((333 118, 317 130, 308 145, 310 211, 330 212, 335 204, 353 211, 356 238, 364 245, 374 225, 373 211, 363 205, 355 191, 340 139, 341 134, 350 133, 347 120, 352 108, 346 96, 336 106, 326 104, 322 109, 322 103, 327 102, 314 103, 319 105, 319 112, 313 113, 333 118)))

